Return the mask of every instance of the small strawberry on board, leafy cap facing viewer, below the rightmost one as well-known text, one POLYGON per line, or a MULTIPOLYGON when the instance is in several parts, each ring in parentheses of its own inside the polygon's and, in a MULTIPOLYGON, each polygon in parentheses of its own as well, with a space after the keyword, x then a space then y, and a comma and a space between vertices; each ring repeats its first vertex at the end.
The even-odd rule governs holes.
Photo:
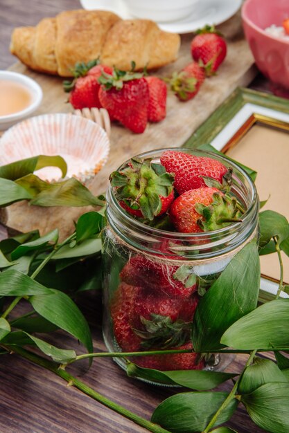
POLYGON ((192 99, 204 82, 204 69, 193 62, 185 66, 179 73, 174 73, 170 80, 170 89, 181 101, 192 99))

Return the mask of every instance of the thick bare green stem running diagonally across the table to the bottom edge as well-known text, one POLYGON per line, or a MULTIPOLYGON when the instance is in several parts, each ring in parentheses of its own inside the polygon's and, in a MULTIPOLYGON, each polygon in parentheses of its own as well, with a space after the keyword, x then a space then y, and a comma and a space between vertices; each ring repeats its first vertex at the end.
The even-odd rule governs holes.
MULTIPOLYGON (((6 347, 3 346, 5 349, 6 347)), ((7 349, 10 351, 10 349, 7 349)), ((36 355, 35 353, 32 353, 30 351, 27 351, 26 349, 22 349, 21 347, 13 347, 13 351, 17 353, 18 355, 22 356, 23 358, 30 360, 34 364, 40 365, 41 367, 44 367, 50 371, 52 371, 57 376, 60 376, 60 378, 64 379, 69 383, 69 385, 73 385, 80 391, 82 391, 87 396, 94 398, 94 400, 98 401, 102 405, 109 407, 110 409, 114 410, 114 412, 117 412, 118 414, 121 414, 122 416, 125 416, 125 418, 130 419, 134 423, 141 425, 141 427, 146 428, 150 432, 153 433, 170 433, 168 430, 165 430, 164 428, 160 427, 157 424, 151 423, 150 421, 146 420, 145 418, 141 418, 141 416, 138 416, 137 414, 134 414, 133 412, 130 412, 128 409, 125 409, 125 407, 118 405, 117 403, 114 403, 112 400, 109 400, 105 396, 99 394, 98 392, 94 391, 94 389, 88 387, 85 385, 85 383, 81 382, 74 376, 71 376, 71 374, 67 373, 67 371, 64 371, 63 369, 60 369, 58 364, 55 364, 55 362, 51 362, 49 360, 46 360, 42 358, 41 356, 36 355)))

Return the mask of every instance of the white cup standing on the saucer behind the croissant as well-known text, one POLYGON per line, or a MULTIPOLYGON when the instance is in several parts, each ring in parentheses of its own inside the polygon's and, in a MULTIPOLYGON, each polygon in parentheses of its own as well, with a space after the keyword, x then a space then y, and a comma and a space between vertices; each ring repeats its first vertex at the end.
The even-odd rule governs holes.
POLYGON ((123 3, 134 17, 166 22, 191 15, 200 0, 123 0, 123 3))

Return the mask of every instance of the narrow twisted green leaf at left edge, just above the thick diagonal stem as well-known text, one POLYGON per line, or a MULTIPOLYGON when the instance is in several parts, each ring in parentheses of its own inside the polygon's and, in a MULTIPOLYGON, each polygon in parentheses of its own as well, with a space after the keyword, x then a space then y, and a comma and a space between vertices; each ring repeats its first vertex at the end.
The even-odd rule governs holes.
POLYGON ((68 362, 76 358, 76 352, 73 350, 67 349, 58 349, 58 347, 53 346, 52 344, 46 343, 44 340, 40 340, 40 338, 35 337, 34 335, 30 335, 24 331, 15 331, 10 333, 6 338, 2 340, 3 344, 8 346, 17 345, 17 346, 26 346, 26 345, 35 345, 40 349, 45 355, 51 356, 53 361, 55 362, 68 362))

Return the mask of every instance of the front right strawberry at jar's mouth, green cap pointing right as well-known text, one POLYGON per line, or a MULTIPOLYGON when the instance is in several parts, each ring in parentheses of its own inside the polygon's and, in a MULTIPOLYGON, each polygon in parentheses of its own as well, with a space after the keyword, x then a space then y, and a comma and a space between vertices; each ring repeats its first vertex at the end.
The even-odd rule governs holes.
POLYGON ((186 191, 170 207, 170 219, 182 233, 217 230, 229 222, 241 221, 238 216, 236 199, 211 187, 186 191))

